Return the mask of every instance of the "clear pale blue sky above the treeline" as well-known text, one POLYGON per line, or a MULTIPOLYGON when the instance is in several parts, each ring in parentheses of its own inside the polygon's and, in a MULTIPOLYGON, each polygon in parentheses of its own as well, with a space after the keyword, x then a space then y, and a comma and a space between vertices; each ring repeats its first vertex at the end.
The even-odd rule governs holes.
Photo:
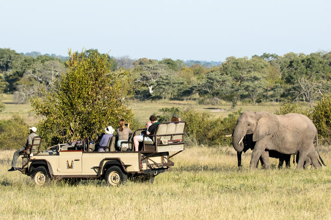
POLYGON ((331 51, 331 1, 0 1, 0 48, 225 61, 331 51))

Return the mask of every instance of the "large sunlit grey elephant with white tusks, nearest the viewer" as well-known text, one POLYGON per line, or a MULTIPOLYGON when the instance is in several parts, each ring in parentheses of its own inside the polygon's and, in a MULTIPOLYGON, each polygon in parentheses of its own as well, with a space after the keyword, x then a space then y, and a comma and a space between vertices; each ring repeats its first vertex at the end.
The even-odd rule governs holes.
MULTIPOLYGON (((246 134, 253 134, 255 143, 250 168, 254 169, 258 159, 266 157, 267 151, 274 150, 282 154, 299 152, 297 169, 303 167, 306 157, 311 159, 314 167, 324 164, 318 152, 318 135, 314 123, 300 114, 273 115, 267 112, 244 112, 238 119, 233 132, 232 144, 237 152, 242 152, 242 141, 246 134), (316 148, 314 140, 316 138, 316 148)), ((324 164, 325 165, 325 164, 324 164)))

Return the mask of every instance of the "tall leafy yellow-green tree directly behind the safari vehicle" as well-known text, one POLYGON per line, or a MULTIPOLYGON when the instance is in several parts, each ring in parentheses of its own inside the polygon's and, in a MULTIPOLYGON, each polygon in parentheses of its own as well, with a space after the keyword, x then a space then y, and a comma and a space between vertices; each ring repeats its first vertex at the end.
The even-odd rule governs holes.
POLYGON ((49 144, 96 137, 103 128, 117 126, 121 118, 130 122, 129 72, 112 72, 107 54, 72 53, 67 73, 54 82, 49 92, 31 100, 34 111, 43 118, 41 135, 49 144))

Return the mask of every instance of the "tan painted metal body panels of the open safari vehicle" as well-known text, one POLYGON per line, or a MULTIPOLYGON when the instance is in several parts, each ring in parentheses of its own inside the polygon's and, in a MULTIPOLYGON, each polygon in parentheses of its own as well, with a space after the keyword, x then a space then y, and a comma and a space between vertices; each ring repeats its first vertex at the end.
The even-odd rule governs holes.
MULTIPOLYGON (((83 152, 77 151, 59 151, 40 152, 37 155, 30 156, 29 167, 34 160, 44 160, 51 166, 50 172, 53 176, 91 176, 99 175, 101 169, 107 161, 122 161, 127 173, 141 172, 149 168, 160 168, 154 166, 154 163, 167 162, 169 153, 155 153, 148 159, 142 161, 142 167, 139 164, 139 152, 83 152), (149 164, 149 167, 147 166, 149 164)), ((141 156, 141 155, 140 155, 141 156)), ((164 166, 168 169, 169 167, 164 166)), ((102 172, 102 171, 101 171, 102 172)))

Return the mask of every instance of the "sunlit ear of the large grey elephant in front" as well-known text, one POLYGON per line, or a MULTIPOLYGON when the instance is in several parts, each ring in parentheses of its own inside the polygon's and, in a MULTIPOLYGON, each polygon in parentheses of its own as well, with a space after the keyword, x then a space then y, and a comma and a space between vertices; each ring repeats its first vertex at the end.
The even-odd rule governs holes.
POLYGON ((259 141, 263 137, 272 134, 279 128, 278 119, 274 115, 267 115, 261 117, 257 121, 255 132, 253 133, 253 141, 259 141))

